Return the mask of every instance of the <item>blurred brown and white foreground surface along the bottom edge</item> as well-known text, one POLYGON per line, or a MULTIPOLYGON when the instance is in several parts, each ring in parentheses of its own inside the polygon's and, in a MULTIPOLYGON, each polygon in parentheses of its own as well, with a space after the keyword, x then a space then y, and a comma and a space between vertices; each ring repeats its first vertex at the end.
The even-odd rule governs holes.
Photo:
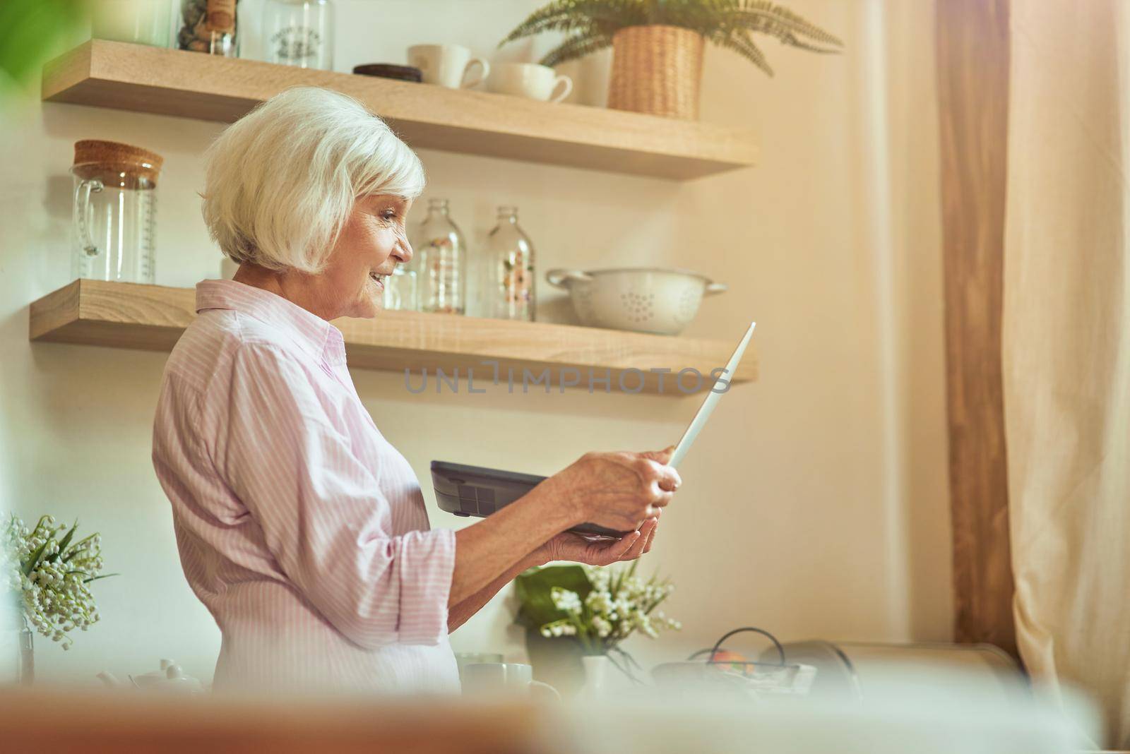
POLYGON ((863 700, 756 702, 637 686, 579 705, 8 692, 0 693, 0 751, 1064 754, 1095 734, 1089 707, 1069 699, 1061 711, 1023 684, 1001 695, 960 673, 893 670, 868 686, 863 700))

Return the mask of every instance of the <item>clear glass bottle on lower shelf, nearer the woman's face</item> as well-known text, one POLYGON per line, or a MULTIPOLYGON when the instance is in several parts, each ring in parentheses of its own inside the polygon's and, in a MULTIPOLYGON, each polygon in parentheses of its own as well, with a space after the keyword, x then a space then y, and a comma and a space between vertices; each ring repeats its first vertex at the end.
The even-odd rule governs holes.
POLYGON ((464 314, 467 310, 467 240, 447 214, 446 199, 432 199, 427 217, 409 239, 418 264, 421 312, 464 314))

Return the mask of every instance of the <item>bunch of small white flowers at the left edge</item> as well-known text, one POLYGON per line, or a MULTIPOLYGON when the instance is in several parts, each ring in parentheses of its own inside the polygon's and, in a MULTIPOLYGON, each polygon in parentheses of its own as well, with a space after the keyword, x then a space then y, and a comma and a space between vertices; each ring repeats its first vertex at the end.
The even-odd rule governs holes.
POLYGON ((78 542, 78 521, 69 529, 43 516, 34 528, 11 515, 0 525, 0 586, 20 597, 24 622, 70 649, 75 629, 98 622, 89 584, 116 573, 101 573, 102 537, 94 533, 78 542))

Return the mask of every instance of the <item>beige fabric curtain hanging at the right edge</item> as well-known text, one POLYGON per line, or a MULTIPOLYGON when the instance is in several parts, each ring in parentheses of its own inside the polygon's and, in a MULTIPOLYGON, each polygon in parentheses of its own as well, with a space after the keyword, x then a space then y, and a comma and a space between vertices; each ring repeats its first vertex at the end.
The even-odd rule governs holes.
POLYGON ((1124 0, 1012 0, 1003 383, 1017 641, 1130 746, 1124 0))

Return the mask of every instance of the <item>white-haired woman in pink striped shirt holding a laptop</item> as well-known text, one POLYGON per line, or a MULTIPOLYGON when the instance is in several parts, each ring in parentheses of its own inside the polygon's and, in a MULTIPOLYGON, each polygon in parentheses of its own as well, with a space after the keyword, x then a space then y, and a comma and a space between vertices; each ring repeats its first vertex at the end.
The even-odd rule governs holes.
POLYGON ((223 633, 217 687, 455 691, 449 632, 523 569, 647 552, 679 485, 670 449, 589 453, 483 521, 429 527, 330 324, 379 315, 423 190, 416 155, 322 89, 273 97, 208 155, 205 220, 240 270, 197 286, 153 459, 223 633), (631 534, 588 543, 581 521, 631 534))

